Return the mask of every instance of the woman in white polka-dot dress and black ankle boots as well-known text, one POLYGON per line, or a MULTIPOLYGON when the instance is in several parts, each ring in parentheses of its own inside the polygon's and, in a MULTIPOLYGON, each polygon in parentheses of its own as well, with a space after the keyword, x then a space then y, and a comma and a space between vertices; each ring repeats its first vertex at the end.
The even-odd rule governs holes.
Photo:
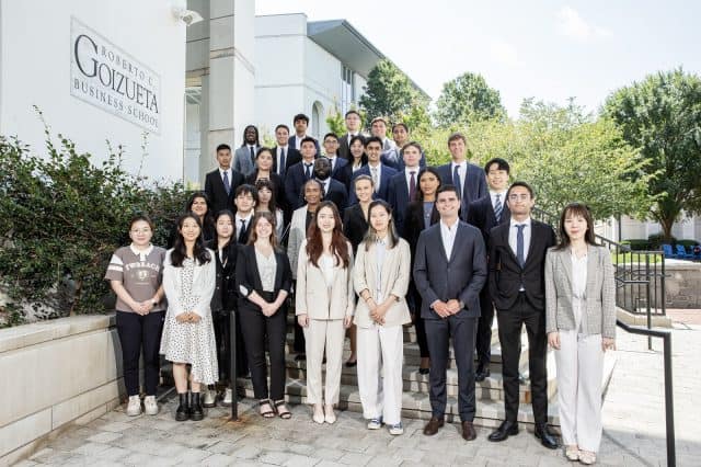
POLYGON ((200 387, 214 385, 219 377, 210 309, 217 283, 214 258, 214 252, 204 246, 199 217, 194 213, 181 216, 175 243, 165 253, 163 266, 168 311, 160 350, 165 360, 173 362, 173 379, 180 396, 177 421, 204 418, 200 387))

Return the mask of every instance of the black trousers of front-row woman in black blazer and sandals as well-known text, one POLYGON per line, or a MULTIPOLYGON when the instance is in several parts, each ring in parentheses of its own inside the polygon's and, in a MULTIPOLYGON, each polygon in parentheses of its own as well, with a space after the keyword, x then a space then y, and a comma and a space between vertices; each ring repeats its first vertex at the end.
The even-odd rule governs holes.
MULTIPOLYGON (((272 293, 258 292, 266 301, 275 298, 272 293)), ((253 303, 239 306, 241 332, 249 355, 249 367, 256 399, 280 400, 285 397, 285 334, 287 332, 287 305, 275 315, 266 317, 253 303), (265 344, 271 360, 271 389, 267 387, 265 344)))

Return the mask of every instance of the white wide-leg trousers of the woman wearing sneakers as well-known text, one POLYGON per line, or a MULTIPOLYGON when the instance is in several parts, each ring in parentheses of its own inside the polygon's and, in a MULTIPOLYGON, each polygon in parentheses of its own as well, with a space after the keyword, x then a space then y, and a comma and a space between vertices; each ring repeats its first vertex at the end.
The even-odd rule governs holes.
POLYGON ((402 420, 403 332, 401 326, 358 327, 358 389, 366 419, 382 418, 391 425, 402 420))

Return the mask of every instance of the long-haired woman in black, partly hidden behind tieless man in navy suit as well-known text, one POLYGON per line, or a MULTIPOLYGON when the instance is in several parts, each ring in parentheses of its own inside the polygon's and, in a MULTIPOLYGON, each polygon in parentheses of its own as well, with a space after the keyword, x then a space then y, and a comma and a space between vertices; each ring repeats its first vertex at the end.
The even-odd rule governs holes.
MULTIPOLYGON (((418 190, 416 190, 416 200, 409 203, 404 214, 404 240, 409 242, 409 249, 412 253, 412 271, 414 270, 414 258, 416 255, 416 243, 421 231, 433 226, 440 220, 440 215, 436 209, 436 192, 440 187, 440 175, 433 167, 426 167, 418 172, 418 190)), ((406 301, 414 318, 414 327, 416 328, 416 342, 421 352, 421 364, 418 373, 428 374, 430 364, 428 355, 428 343, 426 342, 426 328, 421 317, 421 294, 416 289, 416 285, 412 280, 409 284, 409 293, 406 301)))

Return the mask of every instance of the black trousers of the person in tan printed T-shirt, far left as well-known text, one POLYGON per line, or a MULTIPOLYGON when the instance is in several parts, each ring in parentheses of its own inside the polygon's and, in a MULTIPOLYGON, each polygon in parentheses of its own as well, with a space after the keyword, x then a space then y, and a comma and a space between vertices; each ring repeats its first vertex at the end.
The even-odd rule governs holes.
POLYGON ((165 311, 148 315, 117 311, 117 334, 122 344, 122 364, 124 367, 124 385, 127 395, 139 394, 139 356, 143 351, 143 386, 147 396, 156 396, 160 378, 161 333, 165 311))

